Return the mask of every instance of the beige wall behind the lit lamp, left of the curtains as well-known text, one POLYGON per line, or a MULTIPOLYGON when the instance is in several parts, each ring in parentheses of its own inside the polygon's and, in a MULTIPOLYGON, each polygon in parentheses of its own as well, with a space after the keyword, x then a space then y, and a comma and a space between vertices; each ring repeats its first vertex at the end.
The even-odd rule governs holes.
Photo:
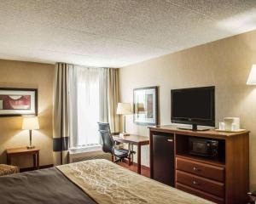
MULTIPOLYGON (((52 158, 52 94, 54 65, 0 59, 0 87, 38 88, 38 120, 40 130, 33 131, 32 143, 39 147, 40 165, 53 163, 52 158)), ((0 117, 0 163, 6 162, 7 148, 26 146, 28 131, 21 130, 22 117, 0 117)), ((32 159, 18 158, 20 167, 29 167, 32 159)))

